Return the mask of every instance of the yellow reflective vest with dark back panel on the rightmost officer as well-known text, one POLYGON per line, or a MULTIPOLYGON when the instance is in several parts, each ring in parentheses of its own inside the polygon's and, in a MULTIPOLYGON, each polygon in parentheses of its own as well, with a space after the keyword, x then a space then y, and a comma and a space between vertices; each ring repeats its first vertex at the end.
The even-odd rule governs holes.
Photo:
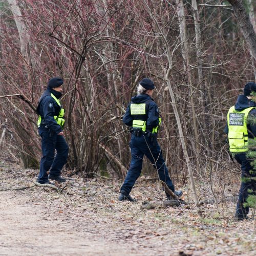
POLYGON ((234 106, 228 111, 228 142, 230 152, 246 152, 248 151, 248 131, 247 117, 249 112, 254 109, 247 108, 243 111, 236 111, 234 106))

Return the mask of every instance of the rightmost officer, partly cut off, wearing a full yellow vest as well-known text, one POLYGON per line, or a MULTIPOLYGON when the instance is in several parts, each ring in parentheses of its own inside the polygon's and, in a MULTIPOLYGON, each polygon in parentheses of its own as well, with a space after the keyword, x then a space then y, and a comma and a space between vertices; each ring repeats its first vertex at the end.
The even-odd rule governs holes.
POLYGON ((253 169, 251 166, 252 161, 246 155, 248 152, 248 138, 255 139, 256 136, 256 104, 255 98, 251 95, 252 92, 256 92, 255 82, 249 82, 245 85, 244 94, 239 95, 237 103, 229 109, 225 129, 228 134, 229 151, 241 164, 242 169, 242 181, 235 215, 236 220, 247 219, 249 208, 244 207, 243 204, 248 197, 248 189, 256 193, 256 181, 254 179, 245 180, 245 178, 254 176, 250 173, 250 170, 253 169))

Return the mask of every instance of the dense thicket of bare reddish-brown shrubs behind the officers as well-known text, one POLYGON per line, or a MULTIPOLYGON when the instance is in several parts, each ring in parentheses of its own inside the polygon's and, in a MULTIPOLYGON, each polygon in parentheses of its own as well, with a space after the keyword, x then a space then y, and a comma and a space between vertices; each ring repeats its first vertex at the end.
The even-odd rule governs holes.
MULTIPOLYGON (((2 1, 0 90, 1 95, 19 94, 1 99, 1 121, 7 118, 8 127, 5 150, 16 150, 26 167, 38 165, 40 142, 32 108, 49 78, 61 76, 68 167, 83 175, 101 169, 122 178, 130 161, 130 133, 121 117, 138 81, 150 77, 163 119, 159 138, 167 166, 174 179, 185 181, 187 167, 165 83, 169 67, 157 22, 172 54, 169 79, 194 172, 204 180, 216 170, 230 172, 223 134, 226 113, 244 84, 254 80, 253 61, 228 2, 205 3, 2 1)), ((247 4, 253 18, 251 1, 247 4)), ((151 169, 144 166, 147 173, 151 169)))

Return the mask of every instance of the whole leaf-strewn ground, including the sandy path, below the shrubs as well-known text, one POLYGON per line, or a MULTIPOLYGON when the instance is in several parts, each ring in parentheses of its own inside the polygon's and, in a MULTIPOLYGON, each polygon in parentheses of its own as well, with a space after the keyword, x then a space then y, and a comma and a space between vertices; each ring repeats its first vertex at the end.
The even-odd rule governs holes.
MULTIPOLYGON (((38 170, 0 165, 0 255, 255 255, 255 219, 234 222, 234 203, 142 208, 162 202, 158 183, 139 178, 138 202, 119 202, 121 181, 72 176, 57 193, 33 186, 38 170)), ((57 184, 63 186, 63 184, 57 184)))

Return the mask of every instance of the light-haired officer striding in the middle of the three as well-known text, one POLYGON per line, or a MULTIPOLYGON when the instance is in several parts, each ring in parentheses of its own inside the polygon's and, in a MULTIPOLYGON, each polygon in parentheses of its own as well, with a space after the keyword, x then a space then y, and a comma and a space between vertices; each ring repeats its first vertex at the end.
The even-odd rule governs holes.
MULTIPOLYGON (((131 127, 130 147, 132 161, 129 172, 120 189, 119 201, 136 201, 130 196, 130 192, 140 176, 144 155, 150 159, 157 169, 159 179, 164 181, 177 196, 180 197, 182 195, 181 190, 175 191, 174 189, 161 148, 157 142, 157 132, 161 118, 159 118, 158 106, 152 98, 154 89, 155 85, 152 80, 148 78, 142 79, 138 86, 138 95, 132 97, 132 101, 127 106, 123 116, 123 122, 131 127)), ((170 195, 166 193, 166 196, 170 199, 170 195)))

